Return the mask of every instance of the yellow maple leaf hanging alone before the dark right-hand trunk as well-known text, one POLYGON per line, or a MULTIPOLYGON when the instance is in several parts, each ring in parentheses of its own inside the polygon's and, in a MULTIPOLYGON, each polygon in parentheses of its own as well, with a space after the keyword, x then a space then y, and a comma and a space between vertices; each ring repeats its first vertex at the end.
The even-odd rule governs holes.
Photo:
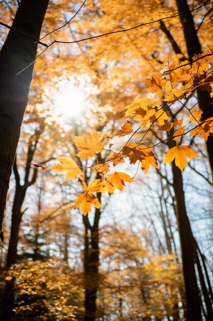
POLYGON ((187 163, 186 157, 199 157, 196 151, 191 146, 175 146, 167 151, 164 157, 163 164, 172 163, 175 159, 175 165, 182 171, 187 163))

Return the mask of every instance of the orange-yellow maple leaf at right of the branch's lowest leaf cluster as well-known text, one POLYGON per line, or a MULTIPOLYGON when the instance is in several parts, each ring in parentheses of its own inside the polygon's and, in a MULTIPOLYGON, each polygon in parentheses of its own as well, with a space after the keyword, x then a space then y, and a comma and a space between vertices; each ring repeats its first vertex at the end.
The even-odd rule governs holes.
POLYGON ((106 176, 106 182, 105 185, 108 194, 113 194, 115 188, 120 190, 121 192, 124 189, 125 183, 132 183, 134 182, 134 179, 132 179, 128 174, 122 173, 122 172, 114 172, 106 176))

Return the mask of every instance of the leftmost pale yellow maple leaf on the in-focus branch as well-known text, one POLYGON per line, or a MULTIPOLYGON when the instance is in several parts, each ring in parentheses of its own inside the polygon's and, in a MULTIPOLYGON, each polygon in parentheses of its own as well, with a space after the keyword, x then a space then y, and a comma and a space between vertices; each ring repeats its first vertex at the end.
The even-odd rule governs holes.
POLYGON ((80 167, 76 164, 76 162, 69 157, 61 156, 58 157, 57 160, 62 164, 55 164, 50 167, 56 173, 65 173, 64 181, 67 182, 69 179, 76 179, 78 175, 83 176, 83 172, 80 167))

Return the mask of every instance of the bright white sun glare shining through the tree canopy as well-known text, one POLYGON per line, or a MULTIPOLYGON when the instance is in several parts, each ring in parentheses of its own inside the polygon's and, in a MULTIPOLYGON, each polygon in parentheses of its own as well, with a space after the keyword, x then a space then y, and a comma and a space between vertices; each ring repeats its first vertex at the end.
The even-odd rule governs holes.
POLYGON ((58 116, 76 119, 86 111, 88 98, 83 86, 83 81, 77 86, 74 79, 60 81, 54 98, 55 112, 58 116))

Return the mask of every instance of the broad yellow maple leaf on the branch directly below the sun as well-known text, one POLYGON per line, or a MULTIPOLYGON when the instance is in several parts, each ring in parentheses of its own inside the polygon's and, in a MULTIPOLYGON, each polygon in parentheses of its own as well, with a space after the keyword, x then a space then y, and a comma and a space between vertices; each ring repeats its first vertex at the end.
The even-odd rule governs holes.
POLYGON ((91 132, 89 140, 84 136, 74 136, 74 143, 76 148, 81 150, 77 156, 81 158, 91 158, 100 153, 106 142, 106 137, 102 132, 91 132))

